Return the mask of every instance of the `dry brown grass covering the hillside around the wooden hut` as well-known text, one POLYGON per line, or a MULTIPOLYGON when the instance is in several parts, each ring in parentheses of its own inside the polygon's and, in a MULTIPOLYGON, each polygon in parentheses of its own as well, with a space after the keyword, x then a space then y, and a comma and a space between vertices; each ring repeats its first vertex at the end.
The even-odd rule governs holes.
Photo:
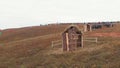
MULTIPOLYGON (((85 36, 120 33, 119 26, 87 32, 85 36)), ((98 36, 98 43, 85 42, 84 48, 77 51, 50 53, 51 41, 61 39, 66 27, 67 24, 3 30, 0 68, 120 68, 120 37, 98 36)))

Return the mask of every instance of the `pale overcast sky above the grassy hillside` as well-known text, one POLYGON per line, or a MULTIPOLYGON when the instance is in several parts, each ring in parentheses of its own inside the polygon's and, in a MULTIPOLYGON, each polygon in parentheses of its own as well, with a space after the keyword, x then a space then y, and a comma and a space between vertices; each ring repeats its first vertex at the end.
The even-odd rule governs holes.
POLYGON ((120 21, 120 0, 0 0, 0 28, 120 21))

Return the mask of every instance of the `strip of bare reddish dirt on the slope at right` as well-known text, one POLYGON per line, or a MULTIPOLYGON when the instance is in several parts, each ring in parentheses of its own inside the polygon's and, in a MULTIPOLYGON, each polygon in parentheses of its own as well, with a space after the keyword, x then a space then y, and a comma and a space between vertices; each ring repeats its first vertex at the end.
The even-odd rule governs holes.
POLYGON ((120 37, 120 33, 94 33, 91 36, 99 36, 99 37, 120 37))

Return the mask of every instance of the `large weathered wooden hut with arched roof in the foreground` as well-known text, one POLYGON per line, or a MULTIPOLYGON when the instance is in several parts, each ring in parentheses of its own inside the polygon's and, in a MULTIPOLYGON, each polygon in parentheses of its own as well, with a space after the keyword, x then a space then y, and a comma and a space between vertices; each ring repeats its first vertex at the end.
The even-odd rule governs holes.
POLYGON ((77 26, 69 26, 62 33, 63 51, 73 51, 83 46, 82 32, 77 26))

